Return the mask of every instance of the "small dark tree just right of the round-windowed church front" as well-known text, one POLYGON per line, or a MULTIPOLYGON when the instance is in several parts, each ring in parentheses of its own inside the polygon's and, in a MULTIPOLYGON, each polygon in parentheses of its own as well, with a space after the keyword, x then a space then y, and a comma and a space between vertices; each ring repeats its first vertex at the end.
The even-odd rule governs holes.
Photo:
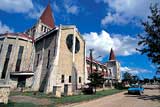
POLYGON ((99 85, 103 85, 103 83, 105 82, 103 74, 99 72, 92 72, 89 75, 88 80, 90 80, 90 86, 95 89, 95 93, 96 93, 96 87, 99 85))

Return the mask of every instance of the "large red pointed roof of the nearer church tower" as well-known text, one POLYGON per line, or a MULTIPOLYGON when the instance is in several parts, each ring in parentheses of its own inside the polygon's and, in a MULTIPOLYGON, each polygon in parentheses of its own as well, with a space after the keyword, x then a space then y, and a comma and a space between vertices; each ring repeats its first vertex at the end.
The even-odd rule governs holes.
POLYGON ((47 7, 45 8, 45 10, 43 11, 41 17, 40 17, 42 23, 46 24, 47 26, 54 28, 54 19, 52 16, 52 9, 50 4, 47 5, 47 7))

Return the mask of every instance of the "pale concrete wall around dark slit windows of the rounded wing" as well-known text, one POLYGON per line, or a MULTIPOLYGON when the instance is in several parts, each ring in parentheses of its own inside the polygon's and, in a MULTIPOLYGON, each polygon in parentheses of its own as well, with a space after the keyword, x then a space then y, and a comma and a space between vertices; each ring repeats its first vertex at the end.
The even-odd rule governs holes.
POLYGON ((7 35, 3 41, 1 41, 1 44, 3 43, 3 48, 0 54, 0 77, 2 74, 2 70, 4 67, 4 62, 6 59, 6 53, 8 50, 9 44, 12 44, 12 51, 10 54, 10 60, 8 64, 7 72, 15 72, 16 68, 16 62, 18 57, 18 51, 19 46, 24 46, 22 59, 21 59, 21 65, 20 65, 20 71, 32 71, 32 68, 29 68, 31 63, 31 55, 32 55, 32 41, 27 40, 26 38, 21 38, 19 36, 14 35, 7 35))

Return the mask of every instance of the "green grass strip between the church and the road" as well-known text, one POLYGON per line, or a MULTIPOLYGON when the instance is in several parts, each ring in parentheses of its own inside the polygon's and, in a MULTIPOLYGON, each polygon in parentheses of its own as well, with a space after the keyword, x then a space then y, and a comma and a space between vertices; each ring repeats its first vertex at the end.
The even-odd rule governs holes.
MULTIPOLYGON (((124 90, 118 90, 118 89, 110 89, 110 90, 103 90, 103 91, 97 91, 96 94, 92 95, 74 95, 74 96, 65 96, 61 98, 55 98, 51 94, 44 94, 37 92, 36 95, 34 95, 34 92, 11 92, 10 96, 15 96, 15 95, 23 95, 23 96, 31 96, 31 97, 36 97, 36 98, 47 98, 51 101, 51 105, 48 105, 47 107, 54 107, 55 105, 61 105, 61 104, 71 104, 71 103, 77 103, 77 102, 83 102, 83 101, 89 101, 97 98, 101 98, 104 96, 116 94, 119 92, 122 92, 124 90)), ((10 102, 7 105, 2 105, 0 104, 0 107, 46 107, 46 106, 38 106, 32 103, 15 103, 15 102, 10 102)))

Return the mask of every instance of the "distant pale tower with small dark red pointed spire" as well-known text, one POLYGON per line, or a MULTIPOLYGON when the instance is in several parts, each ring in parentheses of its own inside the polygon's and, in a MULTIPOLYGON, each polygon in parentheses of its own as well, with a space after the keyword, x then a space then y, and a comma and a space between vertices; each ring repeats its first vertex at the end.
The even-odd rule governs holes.
POLYGON ((113 80, 120 80, 120 63, 116 60, 113 49, 111 48, 109 61, 107 62, 108 74, 113 80))

